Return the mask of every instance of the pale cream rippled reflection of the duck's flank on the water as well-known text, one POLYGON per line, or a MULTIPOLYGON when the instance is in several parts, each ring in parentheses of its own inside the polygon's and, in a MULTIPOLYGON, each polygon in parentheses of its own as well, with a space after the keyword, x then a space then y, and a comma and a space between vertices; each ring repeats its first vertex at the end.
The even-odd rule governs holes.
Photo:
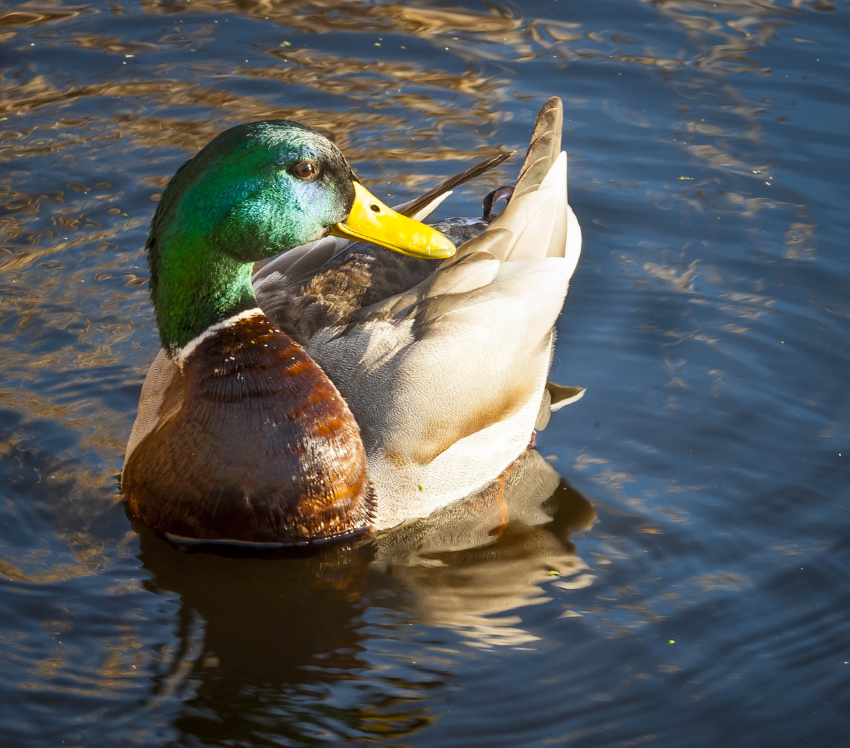
POLYGON ((376 540, 372 568, 403 580, 418 621, 460 632, 479 648, 536 636, 518 627, 542 582, 587 569, 570 541, 596 520, 592 505, 530 450, 479 496, 376 540))

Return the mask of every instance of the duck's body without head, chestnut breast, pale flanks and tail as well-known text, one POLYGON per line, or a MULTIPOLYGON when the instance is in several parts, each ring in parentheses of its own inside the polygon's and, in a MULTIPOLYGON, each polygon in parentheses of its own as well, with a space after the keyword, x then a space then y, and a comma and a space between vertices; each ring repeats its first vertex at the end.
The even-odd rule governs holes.
POLYGON ((496 479, 570 399, 546 381, 581 249, 560 129, 550 99, 498 218, 434 224, 454 257, 318 239, 253 275, 234 314, 163 340, 127 445, 133 513, 184 538, 298 544, 496 479))

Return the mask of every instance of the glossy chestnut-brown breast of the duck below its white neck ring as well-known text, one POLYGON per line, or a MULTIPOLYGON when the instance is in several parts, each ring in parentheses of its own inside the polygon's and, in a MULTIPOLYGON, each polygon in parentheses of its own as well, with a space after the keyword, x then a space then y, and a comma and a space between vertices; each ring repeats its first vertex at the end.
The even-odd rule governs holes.
POLYGON ((179 410, 130 456, 130 509, 194 539, 296 544, 369 524, 360 429, 331 380, 264 314, 202 340, 179 410))

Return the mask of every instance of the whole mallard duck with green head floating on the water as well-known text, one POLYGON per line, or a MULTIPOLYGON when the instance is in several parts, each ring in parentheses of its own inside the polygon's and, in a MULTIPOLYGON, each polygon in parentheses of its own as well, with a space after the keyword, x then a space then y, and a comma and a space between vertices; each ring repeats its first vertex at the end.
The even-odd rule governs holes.
POLYGON ((233 127, 180 167, 146 245, 162 349, 130 510, 183 539, 315 543, 499 477, 583 394, 547 383, 581 251, 562 123, 549 99, 501 215, 509 189, 434 227, 419 221, 494 160, 397 210, 294 122, 233 127))

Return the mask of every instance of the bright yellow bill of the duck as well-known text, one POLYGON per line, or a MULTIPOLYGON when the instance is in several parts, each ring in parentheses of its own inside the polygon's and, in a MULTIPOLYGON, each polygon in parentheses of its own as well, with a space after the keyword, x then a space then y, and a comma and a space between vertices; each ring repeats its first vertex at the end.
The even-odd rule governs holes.
POLYGON ((439 231, 395 212, 359 182, 354 182, 354 205, 348 218, 332 226, 331 234, 371 241, 411 257, 442 259, 455 253, 455 245, 439 231))

